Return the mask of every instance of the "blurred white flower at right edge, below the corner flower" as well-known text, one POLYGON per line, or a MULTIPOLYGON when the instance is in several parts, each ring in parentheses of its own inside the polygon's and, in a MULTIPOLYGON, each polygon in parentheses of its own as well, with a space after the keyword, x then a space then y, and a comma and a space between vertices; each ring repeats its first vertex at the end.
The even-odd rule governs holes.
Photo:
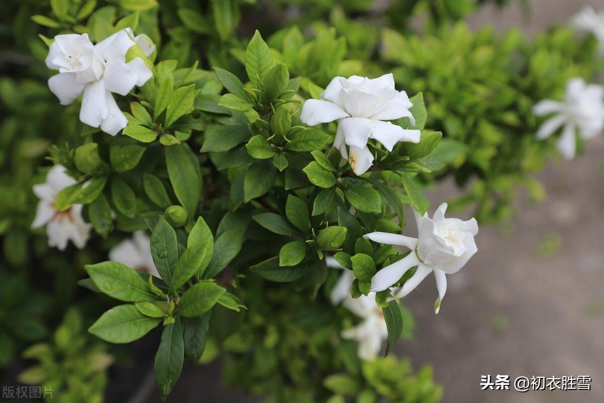
POLYGON ((538 140, 550 137, 564 126, 556 147, 565 160, 572 160, 577 149, 577 131, 583 140, 589 140, 604 130, 604 87, 572 79, 567 84, 564 102, 542 100, 533 107, 533 113, 554 114, 539 127, 538 140))

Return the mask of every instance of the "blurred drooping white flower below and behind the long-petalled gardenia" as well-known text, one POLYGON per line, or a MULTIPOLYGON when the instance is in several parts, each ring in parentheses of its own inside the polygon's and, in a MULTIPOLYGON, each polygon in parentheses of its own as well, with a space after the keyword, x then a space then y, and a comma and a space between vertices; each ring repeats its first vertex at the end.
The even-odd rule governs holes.
POLYGON ((333 305, 342 303, 344 308, 362 319, 358 325, 342 330, 341 336, 356 340, 359 344, 359 357, 369 361, 380 352, 382 343, 388 338, 384 311, 377 306, 374 292, 356 299, 352 298, 350 286, 355 280, 352 271, 343 268, 333 257, 327 257, 326 262, 330 267, 344 269, 330 295, 333 305))

